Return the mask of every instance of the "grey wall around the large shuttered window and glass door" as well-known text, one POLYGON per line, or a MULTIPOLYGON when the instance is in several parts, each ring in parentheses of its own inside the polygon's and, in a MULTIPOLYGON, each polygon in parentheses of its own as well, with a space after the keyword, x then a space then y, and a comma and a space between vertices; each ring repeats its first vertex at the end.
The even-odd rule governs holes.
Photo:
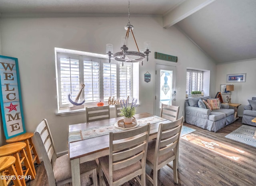
MULTIPOLYGON (((54 47, 104 54, 106 44, 112 43, 114 51, 119 51, 127 18, 1 18, 0 21, 2 54, 18 58, 26 130, 34 132, 38 123, 46 118, 57 152, 67 150, 68 125, 85 122, 85 114, 55 115, 54 47)), ((132 17, 131 24, 138 46, 142 48, 144 41, 150 41, 152 51, 149 61, 144 61, 139 69, 141 105, 137 113, 154 114, 156 63, 176 66, 176 87, 180 88, 176 105, 180 106, 180 116, 184 115, 187 67, 211 71, 210 95, 215 96, 216 64, 175 26, 162 28, 162 18, 158 17, 132 17), (155 51, 178 56, 178 63, 154 59, 155 51), (147 71, 152 75, 149 83, 144 82, 147 71)), ((133 44, 129 49, 136 48, 133 44)))

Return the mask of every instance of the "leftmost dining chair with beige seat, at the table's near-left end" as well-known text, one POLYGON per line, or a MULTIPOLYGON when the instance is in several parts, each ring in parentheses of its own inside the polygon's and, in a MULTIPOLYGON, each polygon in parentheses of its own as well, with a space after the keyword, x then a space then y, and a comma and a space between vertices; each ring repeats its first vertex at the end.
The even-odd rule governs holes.
MULTIPOLYGON (((65 154, 57 157, 54 142, 52 140, 52 134, 46 119, 36 127, 34 134, 41 149, 49 185, 59 186, 72 182, 69 155, 65 154)), ((94 186, 98 186, 97 167, 95 160, 80 164, 81 177, 92 174, 94 186)))

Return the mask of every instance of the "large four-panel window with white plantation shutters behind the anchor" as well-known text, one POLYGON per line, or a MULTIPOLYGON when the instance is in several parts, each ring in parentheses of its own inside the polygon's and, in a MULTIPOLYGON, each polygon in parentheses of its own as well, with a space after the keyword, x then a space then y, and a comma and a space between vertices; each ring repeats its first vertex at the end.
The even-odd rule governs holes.
POLYGON ((56 52, 59 109, 70 106, 68 95, 78 103, 85 100, 85 105, 96 105, 99 101, 108 104, 109 97, 114 100, 132 98, 132 64, 122 66, 115 60, 109 63, 104 55, 88 53, 86 56, 68 51, 56 52))

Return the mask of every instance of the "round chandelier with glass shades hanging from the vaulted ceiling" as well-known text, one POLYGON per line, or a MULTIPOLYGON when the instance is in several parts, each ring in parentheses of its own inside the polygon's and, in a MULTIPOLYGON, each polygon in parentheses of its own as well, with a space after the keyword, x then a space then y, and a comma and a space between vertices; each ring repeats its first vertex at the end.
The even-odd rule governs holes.
POLYGON ((122 65, 124 65, 124 62, 130 62, 130 63, 136 63, 136 62, 142 62, 146 59, 148 61, 148 54, 151 52, 150 50, 150 42, 144 42, 144 53, 140 52, 137 42, 135 40, 134 34, 132 32, 133 26, 130 24, 130 0, 128 0, 128 24, 124 27, 126 30, 126 36, 122 36, 122 46, 121 46, 121 51, 118 51, 114 53, 113 55, 113 45, 112 44, 107 44, 106 45, 106 54, 108 55, 109 62, 111 60, 111 57, 113 57, 116 61, 121 61, 122 65), (138 49, 138 51, 128 51, 128 38, 129 38, 129 33, 132 33, 132 37, 134 39, 135 45, 138 49))

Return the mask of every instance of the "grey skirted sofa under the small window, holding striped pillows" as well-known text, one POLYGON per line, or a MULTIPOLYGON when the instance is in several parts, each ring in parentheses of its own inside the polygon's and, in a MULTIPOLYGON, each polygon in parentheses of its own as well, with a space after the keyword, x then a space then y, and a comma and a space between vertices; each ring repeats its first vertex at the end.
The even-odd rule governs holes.
POLYGON ((198 107, 199 99, 207 101, 210 97, 189 98, 185 101, 186 123, 216 133, 234 122, 234 109, 230 109, 228 104, 221 103, 220 109, 210 111, 210 109, 198 107))

